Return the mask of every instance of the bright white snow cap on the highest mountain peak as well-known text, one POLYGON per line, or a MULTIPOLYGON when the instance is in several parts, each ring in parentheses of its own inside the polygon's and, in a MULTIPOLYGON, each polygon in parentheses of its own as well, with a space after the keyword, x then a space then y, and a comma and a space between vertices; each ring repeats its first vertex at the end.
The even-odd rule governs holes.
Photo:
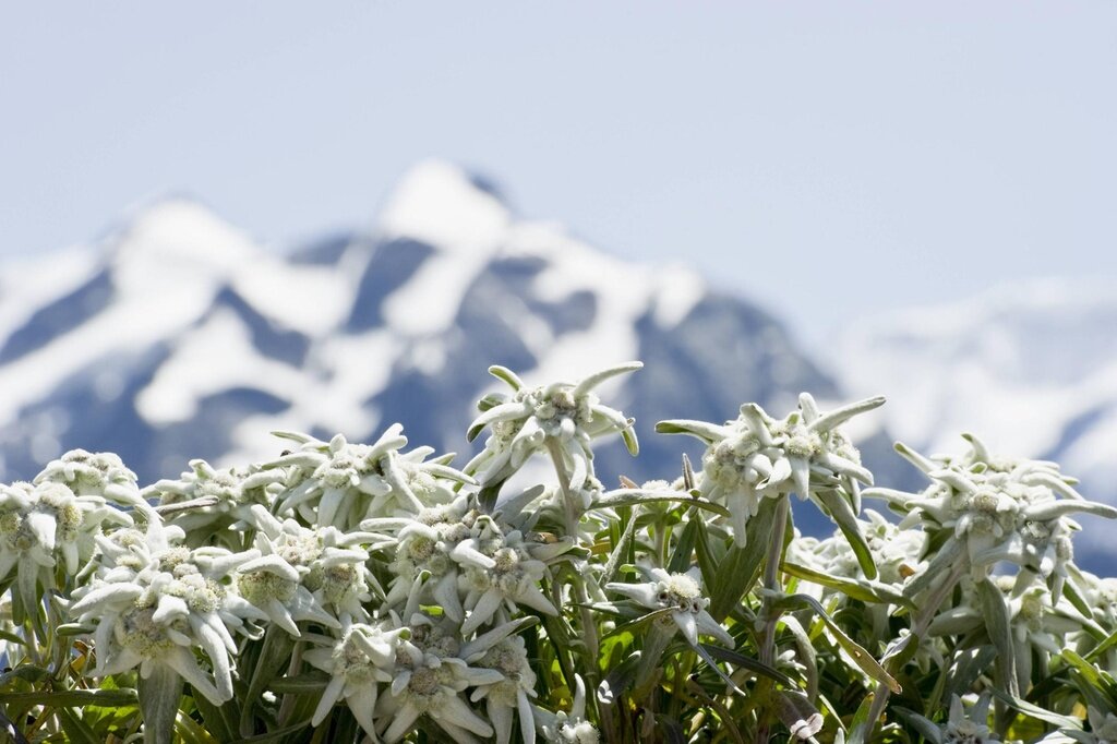
POLYGON ((445 251, 493 251, 512 222, 512 211, 466 170, 426 160, 400 180, 380 216, 381 230, 445 251))

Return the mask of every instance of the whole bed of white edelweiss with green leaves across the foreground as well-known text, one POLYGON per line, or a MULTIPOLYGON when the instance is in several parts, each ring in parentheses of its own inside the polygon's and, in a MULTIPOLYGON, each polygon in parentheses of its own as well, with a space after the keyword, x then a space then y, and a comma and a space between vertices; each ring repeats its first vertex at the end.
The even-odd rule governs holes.
POLYGON ((0 727, 13 742, 1117 742, 1117 579, 1075 564, 1054 462, 897 451, 871 398, 696 437, 674 481, 599 473, 632 362, 528 385, 502 366, 479 452, 276 432, 141 487, 67 452, 0 486, 0 727), (541 475, 543 474, 543 475, 541 475), (605 484, 613 481, 617 487, 605 484), (794 496, 795 498, 792 498, 794 496), (801 502, 810 500, 812 506, 801 502), (862 506, 882 504, 889 518, 862 506), (832 536, 800 535, 821 509, 832 536))

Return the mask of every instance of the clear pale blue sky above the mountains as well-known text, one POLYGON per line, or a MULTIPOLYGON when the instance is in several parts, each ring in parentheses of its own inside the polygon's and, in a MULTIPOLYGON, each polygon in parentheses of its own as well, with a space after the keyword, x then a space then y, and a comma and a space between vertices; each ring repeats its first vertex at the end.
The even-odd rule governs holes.
POLYGON ((0 252, 200 197, 276 247, 424 156, 809 338, 1002 279, 1117 286, 1117 3, 0 6, 0 252))

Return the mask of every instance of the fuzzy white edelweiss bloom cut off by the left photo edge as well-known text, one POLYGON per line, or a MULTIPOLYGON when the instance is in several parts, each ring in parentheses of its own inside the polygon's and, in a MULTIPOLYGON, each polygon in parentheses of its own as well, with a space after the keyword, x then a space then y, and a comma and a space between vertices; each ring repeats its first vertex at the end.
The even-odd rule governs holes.
POLYGON ((56 480, 0 486, 0 583, 15 567, 21 611, 38 607, 39 588, 57 588, 59 560, 67 574, 77 573, 79 563, 93 555, 105 522, 131 525, 132 517, 102 496, 76 496, 56 480))

